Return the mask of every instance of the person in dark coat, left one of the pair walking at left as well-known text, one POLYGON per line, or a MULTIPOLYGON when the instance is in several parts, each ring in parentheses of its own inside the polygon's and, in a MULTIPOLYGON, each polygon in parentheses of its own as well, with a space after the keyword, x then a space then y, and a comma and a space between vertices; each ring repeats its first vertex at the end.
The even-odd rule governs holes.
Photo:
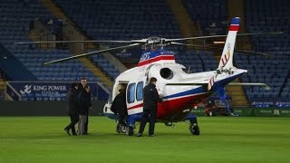
POLYGON ((72 134, 77 135, 75 132, 74 125, 79 121, 79 111, 78 111, 78 84, 73 82, 71 89, 67 95, 68 100, 68 110, 69 116, 71 118, 71 123, 64 128, 68 135, 70 134, 70 129, 72 129, 72 134))

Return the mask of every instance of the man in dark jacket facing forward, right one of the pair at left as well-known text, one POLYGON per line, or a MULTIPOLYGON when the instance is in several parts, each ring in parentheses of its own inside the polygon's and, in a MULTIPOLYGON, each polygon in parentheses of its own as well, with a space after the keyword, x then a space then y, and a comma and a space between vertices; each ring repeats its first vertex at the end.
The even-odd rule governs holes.
POLYGON ((86 135, 85 123, 87 122, 87 116, 91 104, 90 87, 85 86, 84 89, 79 93, 78 106, 79 106, 79 135, 86 135))

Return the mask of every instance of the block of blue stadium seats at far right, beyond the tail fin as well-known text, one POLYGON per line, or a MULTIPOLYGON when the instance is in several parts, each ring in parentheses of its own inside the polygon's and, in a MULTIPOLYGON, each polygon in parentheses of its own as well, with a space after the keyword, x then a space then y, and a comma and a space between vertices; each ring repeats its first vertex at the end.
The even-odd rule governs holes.
POLYGON ((252 37, 256 52, 275 54, 275 57, 237 56, 237 66, 247 68, 243 82, 266 82, 272 88, 246 88, 250 101, 284 101, 289 99, 289 6, 288 1, 245 1, 247 30, 249 33, 277 32, 279 35, 258 35, 252 37), (276 10, 279 8, 279 10, 276 10))

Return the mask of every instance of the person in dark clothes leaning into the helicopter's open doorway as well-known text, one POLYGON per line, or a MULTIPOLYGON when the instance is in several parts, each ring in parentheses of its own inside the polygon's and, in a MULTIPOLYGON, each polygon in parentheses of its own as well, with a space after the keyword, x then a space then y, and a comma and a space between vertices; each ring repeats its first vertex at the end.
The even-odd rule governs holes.
POLYGON ((120 133, 120 125, 125 125, 128 116, 127 104, 126 104, 126 89, 119 90, 120 93, 115 97, 111 103, 111 111, 115 114, 119 114, 119 120, 117 124, 117 132, 120 133))

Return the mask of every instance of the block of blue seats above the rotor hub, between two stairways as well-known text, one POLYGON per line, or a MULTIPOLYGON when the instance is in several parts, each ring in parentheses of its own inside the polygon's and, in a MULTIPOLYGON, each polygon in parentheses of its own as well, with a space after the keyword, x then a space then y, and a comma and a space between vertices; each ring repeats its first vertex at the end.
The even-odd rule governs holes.
POLYGON ((180 37, 179 26, 164 0, 55 2, 93 39, 131 40, 154 35, 180 37))

